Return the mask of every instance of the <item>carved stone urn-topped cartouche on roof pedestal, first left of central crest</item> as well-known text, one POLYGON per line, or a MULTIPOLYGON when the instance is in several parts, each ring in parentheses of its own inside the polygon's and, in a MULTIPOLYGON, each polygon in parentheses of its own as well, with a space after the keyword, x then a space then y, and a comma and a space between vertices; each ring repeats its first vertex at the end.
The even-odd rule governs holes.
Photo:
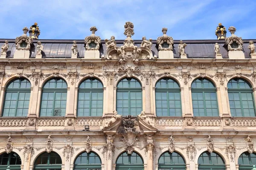
POLYGON ((98 29, 93 26, 90 28, 90 31, 92 31, 92 34, 90 36, 85 37, 84 44, 86 50, 99 50, 99 45, 101 44, 101 39, 99 36, 95 35, 95 32, 98 29))

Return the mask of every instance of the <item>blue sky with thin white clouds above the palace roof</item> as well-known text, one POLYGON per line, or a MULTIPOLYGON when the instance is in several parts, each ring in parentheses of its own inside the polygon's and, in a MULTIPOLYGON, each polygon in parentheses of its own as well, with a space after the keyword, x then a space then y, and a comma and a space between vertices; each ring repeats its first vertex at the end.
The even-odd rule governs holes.
POLYGON ((175 40, 215 40, 220 22, 256 39, 256 0, 1 0, 0 38, 15 39, 37 22, 40 39, 81 40, 96 26, 102 40, 123 40, 126 21, 134 40, 156 40, 163 27, 175 40))

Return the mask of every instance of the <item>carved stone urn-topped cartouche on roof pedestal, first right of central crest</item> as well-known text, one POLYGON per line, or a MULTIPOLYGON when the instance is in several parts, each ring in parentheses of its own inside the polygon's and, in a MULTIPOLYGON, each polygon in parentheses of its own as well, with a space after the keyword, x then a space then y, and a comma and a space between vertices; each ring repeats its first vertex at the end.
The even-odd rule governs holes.
POLYGON ((162 28, 163 35, 161 37, 157 37, 158 49, 160 51, 172 51, 173 49, 173 38, 166 35, 167 30, 167 28, 162 28), (168 45, 168 47, 163 47, 163 44, 168 45))

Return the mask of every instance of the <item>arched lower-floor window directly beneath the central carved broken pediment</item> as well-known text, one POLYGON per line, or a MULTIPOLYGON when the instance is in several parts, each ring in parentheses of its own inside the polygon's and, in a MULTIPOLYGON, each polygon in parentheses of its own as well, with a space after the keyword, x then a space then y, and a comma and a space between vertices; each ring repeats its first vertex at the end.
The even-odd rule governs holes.
POLYGON ((124 152, 116 160, 116 170, 144 170, 143 159, 136 152, 124 152))

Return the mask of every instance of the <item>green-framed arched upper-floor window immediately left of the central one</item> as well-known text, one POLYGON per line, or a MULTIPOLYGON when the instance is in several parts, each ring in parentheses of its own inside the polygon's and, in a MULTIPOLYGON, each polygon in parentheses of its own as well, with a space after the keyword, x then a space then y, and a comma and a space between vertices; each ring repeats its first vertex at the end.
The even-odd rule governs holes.
POLYGON ((102 116, 103 85, 95 78, 85 79, 79 85, 77 116, 102 116))

